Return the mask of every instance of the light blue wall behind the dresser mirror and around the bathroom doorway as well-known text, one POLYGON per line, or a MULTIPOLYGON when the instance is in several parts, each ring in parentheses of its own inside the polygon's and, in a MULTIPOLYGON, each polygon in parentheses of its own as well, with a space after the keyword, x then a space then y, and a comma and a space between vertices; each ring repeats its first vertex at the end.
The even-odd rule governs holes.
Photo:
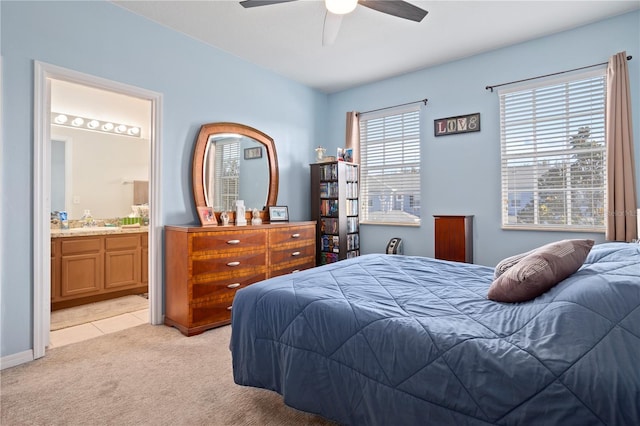
POLYGON ((34 60, 163 95, 163 224, 196 224, 191 155, 200 125, 233 121, 277 147, 278 202, 308 220, 313 148, 327 96, 108 2, 2 1, 0 356, 32 348, 34 60))

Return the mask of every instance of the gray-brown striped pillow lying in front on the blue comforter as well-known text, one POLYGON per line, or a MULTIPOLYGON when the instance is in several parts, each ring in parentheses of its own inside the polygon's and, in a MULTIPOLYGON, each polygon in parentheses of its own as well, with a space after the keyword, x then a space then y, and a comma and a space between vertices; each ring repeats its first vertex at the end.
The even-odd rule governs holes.
POLYGON ((562 240, 532 250, 491 283, 487 297, 496 302, 534 299, 580 269, 591 247, 593 240, 562 240))

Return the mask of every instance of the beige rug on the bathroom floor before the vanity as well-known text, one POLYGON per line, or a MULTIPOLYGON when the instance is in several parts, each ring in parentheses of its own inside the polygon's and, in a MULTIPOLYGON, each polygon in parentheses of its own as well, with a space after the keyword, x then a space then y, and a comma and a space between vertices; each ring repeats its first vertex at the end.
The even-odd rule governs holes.
POLYGON ((86 324, 149 307, 149 299, 132 295, 51 312, 51 331, 86 324))

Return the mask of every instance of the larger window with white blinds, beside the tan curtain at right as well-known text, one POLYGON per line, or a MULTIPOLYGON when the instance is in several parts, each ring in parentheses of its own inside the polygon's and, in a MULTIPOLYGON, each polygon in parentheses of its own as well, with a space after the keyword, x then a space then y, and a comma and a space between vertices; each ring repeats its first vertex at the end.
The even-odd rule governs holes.
POLYGON ((604 71, 500 92, 502 226, 604 231, 604 71))

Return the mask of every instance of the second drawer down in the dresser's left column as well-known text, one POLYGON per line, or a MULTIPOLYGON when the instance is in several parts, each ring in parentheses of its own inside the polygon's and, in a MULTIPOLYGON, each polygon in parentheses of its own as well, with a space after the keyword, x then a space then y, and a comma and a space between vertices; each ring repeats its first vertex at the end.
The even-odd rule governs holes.
POLYGON ((194 278, 205 274, 244 275, 248 271, 264 270, 266 263, 266 252, 263 248, 262 251, 256 252, 229 253, 223 256, 193 258, 191 271, 194 278))

